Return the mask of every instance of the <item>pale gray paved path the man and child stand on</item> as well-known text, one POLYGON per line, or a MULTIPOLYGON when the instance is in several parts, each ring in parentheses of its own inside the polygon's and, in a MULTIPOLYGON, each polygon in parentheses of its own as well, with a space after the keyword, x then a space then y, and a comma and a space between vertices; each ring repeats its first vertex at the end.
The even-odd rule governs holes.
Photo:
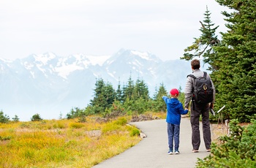
POLYGON ((202 134, 199 153, 192 153, 191 126, 188 118, 181 119, 180 154, 178 155, 167 155, 167 123, 165 120, 141 121, 131 124, 142 130, 147 137, 140 141, 138 145, 97 164, 93 168, 187 168, 195 167, 197 158, 203 159, 210 154, 206 152, 202 134))

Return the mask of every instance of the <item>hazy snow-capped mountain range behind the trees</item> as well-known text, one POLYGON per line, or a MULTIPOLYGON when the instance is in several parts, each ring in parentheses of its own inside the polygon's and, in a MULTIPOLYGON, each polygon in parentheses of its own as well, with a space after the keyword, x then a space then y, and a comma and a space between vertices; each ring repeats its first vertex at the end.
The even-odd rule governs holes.
POLYGON ((191 72, 187 61, 161 61, 151 53, 119 50, 113 56, 67 57, 54 53, 31 55, 15 61, 0 59, 0 110, 20 121, 39 113, 44 119, 66 116, 72 107, 86 107, 94 94, 97 78, 113 84, 127 83, 138 77, 148 84, 153 95, 164 83, 184 88, 191 72))

